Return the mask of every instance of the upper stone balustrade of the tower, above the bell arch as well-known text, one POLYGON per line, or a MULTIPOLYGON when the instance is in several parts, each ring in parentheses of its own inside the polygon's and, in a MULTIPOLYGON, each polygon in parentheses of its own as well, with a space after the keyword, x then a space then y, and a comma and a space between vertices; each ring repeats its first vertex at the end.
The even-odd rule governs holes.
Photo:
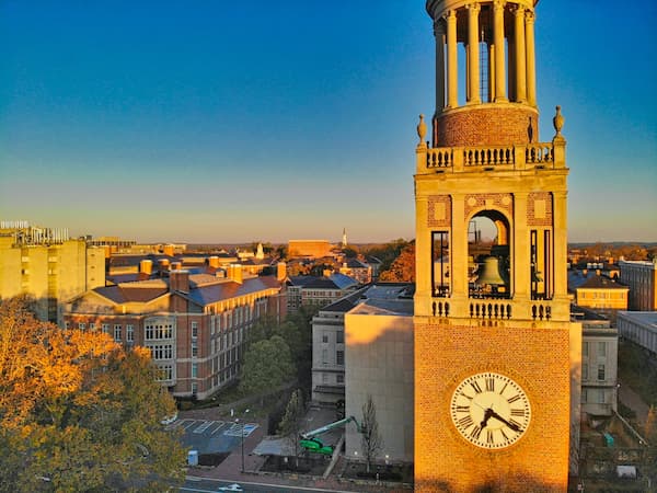
POLYGON ((418 147, 418 173, 565 168, 565 142, 523 146, 418 147), (426 160, 420 156, 426 152, 426 160))

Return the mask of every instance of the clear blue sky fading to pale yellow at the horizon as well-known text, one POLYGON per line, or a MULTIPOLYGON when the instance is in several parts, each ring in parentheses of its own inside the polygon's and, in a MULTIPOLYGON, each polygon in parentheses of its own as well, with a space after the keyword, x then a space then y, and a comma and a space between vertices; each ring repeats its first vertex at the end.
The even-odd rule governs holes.
MULTIPOLYGON (((414 237, 422 0, 0 2, 0 219, 138 241, 414 237)), ((542 0, 569 239, 657 241, 657 7, 542 0)))

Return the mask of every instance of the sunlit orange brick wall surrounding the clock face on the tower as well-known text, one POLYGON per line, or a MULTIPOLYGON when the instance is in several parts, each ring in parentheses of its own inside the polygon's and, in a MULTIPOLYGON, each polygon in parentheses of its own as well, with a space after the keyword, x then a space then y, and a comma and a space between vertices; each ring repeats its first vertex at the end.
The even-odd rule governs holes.
MULTIPOLYGON (((427 319, 429 320, 429 319, 427 319)), ((415 491, 566 491, 569 435, 568 326, 415 325, 415 491), (529 395, 532 417, 514 445, 465 442, 449 413, 465 377, 496 371, 529 395)))

